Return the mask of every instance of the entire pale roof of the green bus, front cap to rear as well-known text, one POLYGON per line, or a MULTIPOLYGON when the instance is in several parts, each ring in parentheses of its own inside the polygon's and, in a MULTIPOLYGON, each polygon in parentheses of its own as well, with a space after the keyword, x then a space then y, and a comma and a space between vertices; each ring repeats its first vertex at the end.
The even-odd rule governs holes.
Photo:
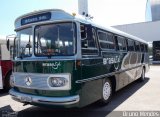
POLYGON ((60 20, 75 20, 75 21, 78 21, 81 23, 91 24, 92 26, 95 26, 97 28, 100 28, 100 29, 112 32, 114 34, 124 36, 127 38, 131 38, 131 39, 134 39, 134 40, 137 40, 137 41, 140 41, 140 42, 147 44, 146 41, 144 41, 136 36, 127 34, 125 32, 122 32, 122 31, 117 30, 112 27, 102 27, 100 25, 95 24, 91 20, 87 20, 84 17, 73 16, 63 10, 60 10, 60 9, 39 10, 39 11, 34 11, 31 13, 22 15, 15 20, 15 27, 19 28, 19 27, 21 27, 23 25, 27 25, 27 24, 33 24, 33 23, 37 23, 37 22, 41 22, 41 21, 53 21, 53 20, 54 21, 56 21, 56 20, 58 20, 58 21, 60 21, 60 20))

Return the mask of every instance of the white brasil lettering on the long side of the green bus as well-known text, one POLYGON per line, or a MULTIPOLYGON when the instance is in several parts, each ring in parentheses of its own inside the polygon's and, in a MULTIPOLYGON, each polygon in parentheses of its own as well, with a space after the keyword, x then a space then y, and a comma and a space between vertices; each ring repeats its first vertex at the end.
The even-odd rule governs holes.
POLYGON ((103 58, 103 64, 114 64, 114 63, 119 63, 120 62, 120 57, 115 56, 115 57, 108 57, 108 58, 103 58))

